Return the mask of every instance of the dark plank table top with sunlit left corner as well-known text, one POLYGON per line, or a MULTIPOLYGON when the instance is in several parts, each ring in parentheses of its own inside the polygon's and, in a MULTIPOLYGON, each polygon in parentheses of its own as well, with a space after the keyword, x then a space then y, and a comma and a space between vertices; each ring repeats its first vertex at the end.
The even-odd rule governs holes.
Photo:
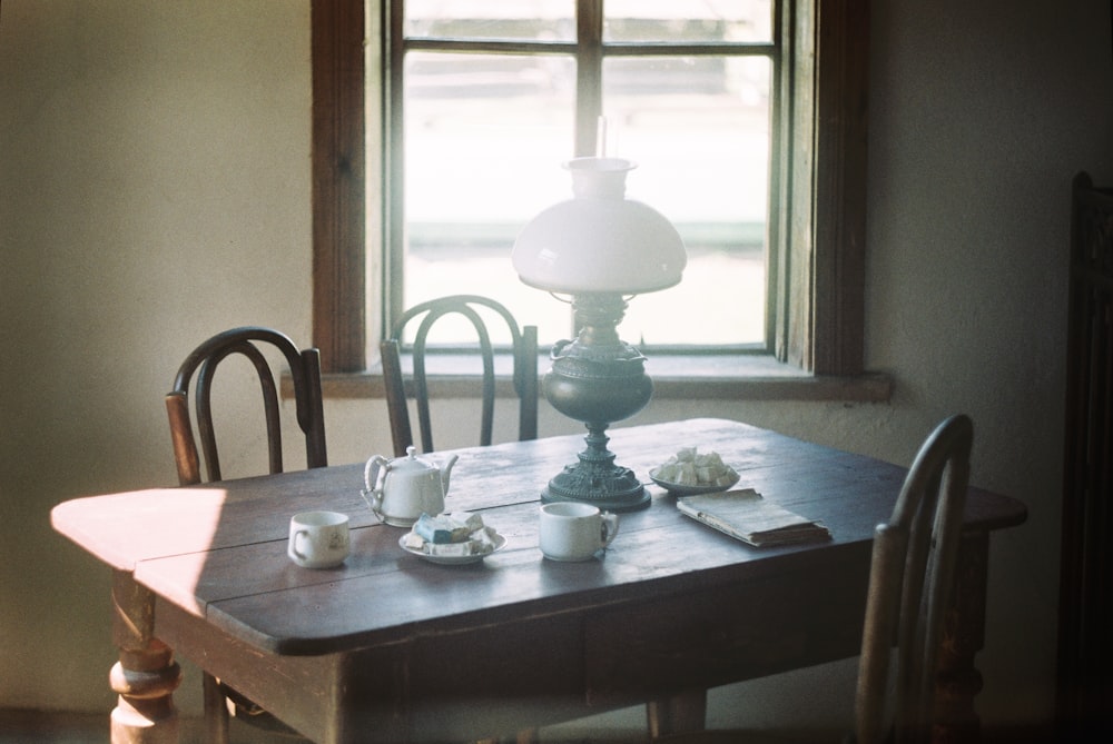
MULTIPOLYGON (((312 655, 404 642, 508 619, 637 602, 693 584, 798 571, 868 546, 888 518, 905 468, 722 419, 617 427, 618 463, 649 483, 649 468, 683 446, 718 452, 752 487, 833 539, 750 547, 683 516, 649 484, 649 508, 621 515, 601 557, 554 563, 538 547, 540 492, 575 460, 582 436, 454 450, 451 510, 480 513, 508 538, 481 562, 443 566, 405 553, 406 530, 380 524, 364 503, 363 464, 152 488, 58 505, 55 528, 104 563, 134 572, 164 599, 232 636, 278 654, 312 655), (352 518, 352 555, 313 571, 286 556, 289 517, 323 508, 352 518)), ((374 453, 368 453, 373 455, 374 453)), ((442 454, 429 457, 436 459, 442 454)), ((971 489, 965 523, 989 530, 1021 524, 1020 502, 971 489)))

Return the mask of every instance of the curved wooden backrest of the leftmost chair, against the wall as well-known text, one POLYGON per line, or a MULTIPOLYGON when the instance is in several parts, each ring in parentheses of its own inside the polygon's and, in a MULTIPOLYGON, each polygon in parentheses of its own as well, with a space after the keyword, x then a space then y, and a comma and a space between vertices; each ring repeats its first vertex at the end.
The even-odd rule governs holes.
POLYGON ((247 357, 258 375, 266 415, 270 473, 283 472, 278 386, 260 347, 274 347, 286 359, 293 380, 297 425, 305 435, 306 467, 323 467, 328 464, 325 455, 325 416, 321 395, 321 353, 315 348, 299 351, 287 336, 269 328, 234 328, 217 334, 194 349, 178 368, 174 389, 166 395, 166 411, 170 418, 170 437, 180 485, 201 482, 197 440, 194 438, 188 404, 190 380, 195 371, 197 380, 194 405, 206 470, 209 480, 221 478, 220 458, 213 427, 213 375, 217 365, 234 354, 247 357))

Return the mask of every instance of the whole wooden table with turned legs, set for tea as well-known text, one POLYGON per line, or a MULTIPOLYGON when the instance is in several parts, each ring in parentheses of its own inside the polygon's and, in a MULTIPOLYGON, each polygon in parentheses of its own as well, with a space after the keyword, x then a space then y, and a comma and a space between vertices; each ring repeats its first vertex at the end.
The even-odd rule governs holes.
MULTIPOLYGON (((362 464, 67 502, 55 528, 116 572, 114 730, 173 735, 175 653, 319 742, 501 735, 858 653, 873 529, 903 468, 719 419, 611 437, 647 482, 679 446, 717 450, 740 487, 823 520, 834 539, 752 548, 651 486, 651 507, 622 515, 599 559, 546 561, 539 492, 574 460, 579 436, 456 450, 447 507, 508 537, 465 566, 400 549, 405 530, 377 524, 359 496, 362 464), (342 567, 287 559, 289 517, 308 508, 352 516, 342 567)), ((938 717, 953 735, 977 733, 989 533, 1025 516, 1014 499, 971 492, 940 674, 938 717)))

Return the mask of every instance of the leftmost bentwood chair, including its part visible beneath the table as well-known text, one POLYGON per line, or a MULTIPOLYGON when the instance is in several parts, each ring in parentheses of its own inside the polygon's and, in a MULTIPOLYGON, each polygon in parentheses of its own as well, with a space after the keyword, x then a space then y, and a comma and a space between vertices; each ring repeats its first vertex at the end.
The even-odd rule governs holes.
MULTIPOLYGON (((174 389, 166 395, 166 411, 170 419, 170 438, 178 482, 183 486, 201 483, 197 439, 204 454, 208 480, 220 480, 220 459, 213 424, 213 376, 217 365, 233 355, 246 357, 255 368, 263 393, 267 429, 267 459, 270 473, 283 472, 282 419, 278 405, 278 383, 264 350, 277 360, 280 354, 290 375, 295 397, 297 425, 305 435, 306 467, 327 465, 325 454, 325 419, 321 395, 321 355, 317 349, 298 350, 284 334, 269 328, 234 328, 209 338, 186 357, 174 379, 174 389), (199 437, 195 438, 189 411, 189 390, 196 373, 194 406, 199 437)), ((280 369, 280 367, 278 367, 280 369)), ((256 728, 298 736, 273 715, 220 683, 208 673, 205 683, 206 741, 225 744, 228 741, 228 715, 256 728)))

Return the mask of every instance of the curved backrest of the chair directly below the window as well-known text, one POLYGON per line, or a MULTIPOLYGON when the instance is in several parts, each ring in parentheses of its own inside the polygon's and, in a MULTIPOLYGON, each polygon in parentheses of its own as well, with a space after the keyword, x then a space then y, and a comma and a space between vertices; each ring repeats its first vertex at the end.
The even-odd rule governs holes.
POLYGON ((494 425, 495 374, 494 347, 483 316, 476 308, 489 308, 498 314, 510 329, 513 350, 514 393, 519 399, 518 438, 535 439, 538 436, 538 329, 518 321, 503 305, 477 295, 451 295, 413 306, 402 314, 394 324, 388 338, 381 344, 383 357, 383 381, 386 386, 386 406, 391 419, 391 435, 394 454, 404 455, 414 444, 410 425, 410 408, 406 404, 406 385, 402 371, 401 347, 403 331, 414 319, 420 325, 413 340, 413 397, 416 403, 417 423, 421 431, 422 452, 433 452, 433 430, 430 415, 429 376, 425 369, 425 351, 429 333, 433 325, 447 315, 460 315, 471 323, 479 340, 479 354, 483 363, 482 401, 480 411, 480 446, 491 444, 494 425))

